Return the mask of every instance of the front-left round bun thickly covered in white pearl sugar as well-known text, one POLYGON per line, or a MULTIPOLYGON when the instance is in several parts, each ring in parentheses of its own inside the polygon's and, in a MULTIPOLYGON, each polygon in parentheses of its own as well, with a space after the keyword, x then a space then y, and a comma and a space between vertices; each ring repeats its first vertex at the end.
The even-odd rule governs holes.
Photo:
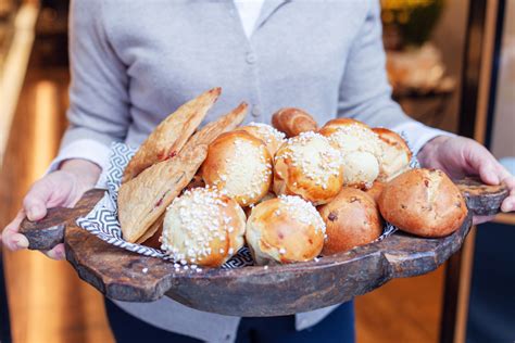
POLYGON ((243 246, 246 216, 213 188, 194 188, 166 209, 162 246, 176 263, 218 267, 243 246))

